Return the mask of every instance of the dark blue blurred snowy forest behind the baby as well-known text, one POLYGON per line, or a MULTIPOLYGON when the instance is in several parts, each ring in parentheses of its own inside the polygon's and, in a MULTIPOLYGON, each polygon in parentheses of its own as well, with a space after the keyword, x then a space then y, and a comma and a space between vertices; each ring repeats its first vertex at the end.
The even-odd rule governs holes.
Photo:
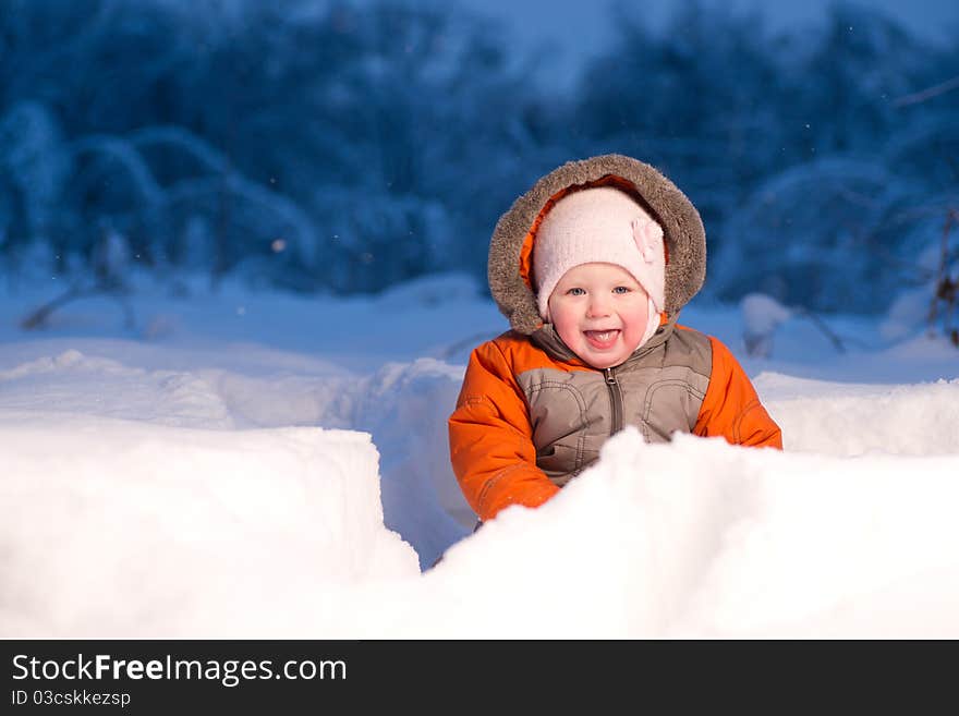
POLYGON ((2 275, 120 252, 160 281, 485 284, 517 194, 617 151, 699 206, 707 296, 873 313, 931 280, 959 209, 959 41, 850 4, 786 34, 695 2, 666 32, 626 4, 615 25, 559 95, 530 78, 548 58, 438 3, 0 0, 2 275))

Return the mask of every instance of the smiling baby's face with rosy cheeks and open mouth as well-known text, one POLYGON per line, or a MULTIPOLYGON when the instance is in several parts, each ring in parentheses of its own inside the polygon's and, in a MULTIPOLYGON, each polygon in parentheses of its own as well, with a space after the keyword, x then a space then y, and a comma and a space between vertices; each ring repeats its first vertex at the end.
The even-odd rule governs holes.
POLYGON ((595 368, 619 365, 636 350, 650 301, 633 275, 614 264, 581 264, 549 296, 549 317, 563 342, 595 368))

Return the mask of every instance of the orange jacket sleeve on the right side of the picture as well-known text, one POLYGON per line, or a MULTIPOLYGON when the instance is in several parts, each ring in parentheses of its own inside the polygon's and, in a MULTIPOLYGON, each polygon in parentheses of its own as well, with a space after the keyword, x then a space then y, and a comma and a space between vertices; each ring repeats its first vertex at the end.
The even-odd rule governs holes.
POLYGON ((782 449, 782 432, 760 402, 745 371, 726 345, 709 337, 713 373, 693 434, 721 435, 731 445, 782 449))

